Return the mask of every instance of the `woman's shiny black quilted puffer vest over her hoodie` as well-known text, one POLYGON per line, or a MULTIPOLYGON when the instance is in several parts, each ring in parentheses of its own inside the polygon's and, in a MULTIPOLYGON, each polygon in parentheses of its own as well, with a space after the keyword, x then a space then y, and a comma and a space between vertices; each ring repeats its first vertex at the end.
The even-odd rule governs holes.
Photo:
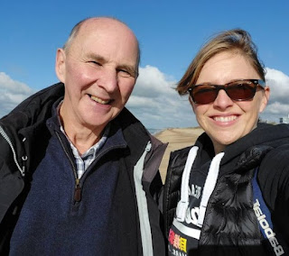
MULTIPOLYGON (((200 136, 196 143, 199 151, 208 151, 208 139, 205 133, 200 136)), ((252 178, 256 167, 275 147, 258 144, 246 149, 248 143, 244 143, 243 138, 240 141, 225 150, 201 229, 198 254, 188 255, 266 255, 253 210, 252 178)), ((190 149, 171 154, 163 198, 166 235, 181 197, 182 171, 190 149)), ((197 158, 200 160, 199 151, 197 158)))

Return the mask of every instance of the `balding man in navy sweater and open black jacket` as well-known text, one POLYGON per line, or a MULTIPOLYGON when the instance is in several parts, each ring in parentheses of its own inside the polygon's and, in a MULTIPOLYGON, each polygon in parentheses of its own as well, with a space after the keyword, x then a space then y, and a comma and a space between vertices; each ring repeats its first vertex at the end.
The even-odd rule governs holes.
POLYGON ((138 64, 124 23, 84 20, 57 51, 61 83, 0 120, 1 253, 164 254, 165 145, 124 108, 138 64))

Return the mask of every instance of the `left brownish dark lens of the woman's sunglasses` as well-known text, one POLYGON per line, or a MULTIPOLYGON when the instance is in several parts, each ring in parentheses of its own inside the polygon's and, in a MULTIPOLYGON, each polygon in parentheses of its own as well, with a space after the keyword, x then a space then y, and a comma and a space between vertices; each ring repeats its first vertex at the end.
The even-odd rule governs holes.
POLYGON ((217 89, 211 86, 194 87, 191 92, 191 97, 197 104, 208 104, 213 102, 217 95, 217 89))

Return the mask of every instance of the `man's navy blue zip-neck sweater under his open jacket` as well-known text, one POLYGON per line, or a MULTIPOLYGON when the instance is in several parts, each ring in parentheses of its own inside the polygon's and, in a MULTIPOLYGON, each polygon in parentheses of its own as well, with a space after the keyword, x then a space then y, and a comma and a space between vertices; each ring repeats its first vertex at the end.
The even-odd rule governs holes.
MULTIPOLYGON (((98 155, 125 145, 119 130, 98 155)), ((75 202, 71 162, 59 138, 51 136, 15 226, 11 255, 117 255, 113 198, 119 169, 117 160, 102 161, 101 168, 98 162, 80 179, 81 201, 75 202)))

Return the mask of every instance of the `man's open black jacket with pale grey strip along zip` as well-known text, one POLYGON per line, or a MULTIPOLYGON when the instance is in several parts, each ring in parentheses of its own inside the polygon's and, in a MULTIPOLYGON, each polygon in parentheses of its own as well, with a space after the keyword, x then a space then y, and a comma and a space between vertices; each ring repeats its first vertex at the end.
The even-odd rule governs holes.
MULTIPOLYGON (((34 169, 42 160, 51 133, 46 120, 51 117, 52 105, 64 96, 64 86, 59 83, 30 96, 10 114, 0 120, 0 254, 9 251, 9 241, 14 225, 20 214, 34 169)), ((157 196, 162 187, 158 172, 166 145, 151 136, 142 123, 125 108, 112 122, 120 126, 127 147, 114 152, 120 169, 126 172, 129 184, 122 180, 116 189, 117 199, 126 203, 126 195, 134 198, 133 204, 123 205, 119 215, 119 230, 127 235, 119 235, 120 255, 164 255, 163 233, 160 228, 162 216, 157 206, 157 196), (148 142, 151 150, 144 159, 144 172, 140 180, 134 178, 135 164, 141 159, 148 142), (126 187, 122 187, 124 185, 126 187), (141 201, 135 189, 144 190, 141 201), (133 192, 131 192, 133 191, 133 192), (132 194, 132 195, 131 195, 132 194), (142 213, 144 211, 144 213, 142 213), (136 216, 137 237, 130 237, 132 215, 136 216), (148 217, 145 217, 148 216, 148 217), (146 235, 146 237, 144 237, 146 235), (147 240, 147 236, 152 239, 147 240), (145 242, 148 241, 148 242, 145 242), (154 252, 152 252, 154 251, 154 252)), ((111 129, 113 133, 114 129, 111 129)), ((104 161, 110 160, 106 155, 104 161)), ((124 179, 125 180, 125 179, 124 179)), ((107 231, 108 232, 108 231, 107 231)), ((113 250, 113 248, 111 248, 113 250)), ((97 254, 97 251, 96 251, 97 254)))

